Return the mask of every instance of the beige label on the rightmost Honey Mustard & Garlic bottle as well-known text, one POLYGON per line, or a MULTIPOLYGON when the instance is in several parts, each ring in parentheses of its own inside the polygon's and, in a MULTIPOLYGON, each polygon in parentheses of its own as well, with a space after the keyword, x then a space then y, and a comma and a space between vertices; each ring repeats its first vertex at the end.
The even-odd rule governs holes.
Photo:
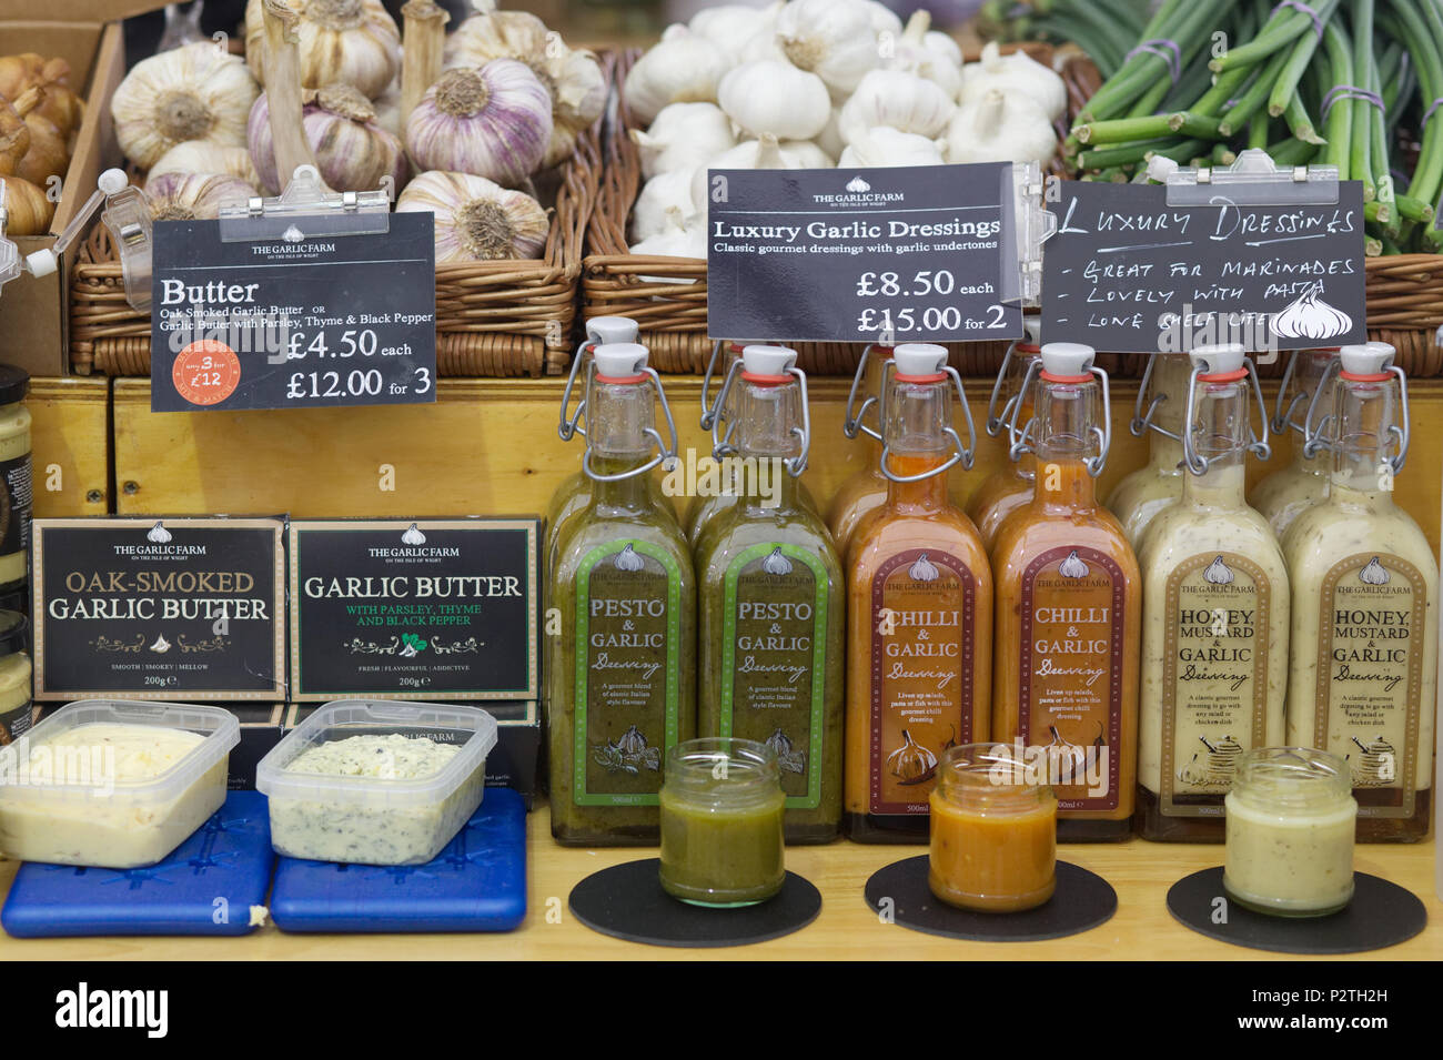
POLYGON ((1395 555, 1359 552, 1323 578, 1313 746, 1348 760, 1362 818, 1413 816, 1427 594, 1395 555))

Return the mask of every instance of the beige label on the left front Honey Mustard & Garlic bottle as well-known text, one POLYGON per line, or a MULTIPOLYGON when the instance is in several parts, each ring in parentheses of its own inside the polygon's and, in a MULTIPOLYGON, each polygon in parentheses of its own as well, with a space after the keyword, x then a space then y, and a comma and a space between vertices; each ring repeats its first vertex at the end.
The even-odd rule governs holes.
POLYGON ((1221 818, 1242 751, 1267 740, 1271 586, 1235 552, 1203 552, 1167 577, 1162 790, 1175 818, 1221 818))

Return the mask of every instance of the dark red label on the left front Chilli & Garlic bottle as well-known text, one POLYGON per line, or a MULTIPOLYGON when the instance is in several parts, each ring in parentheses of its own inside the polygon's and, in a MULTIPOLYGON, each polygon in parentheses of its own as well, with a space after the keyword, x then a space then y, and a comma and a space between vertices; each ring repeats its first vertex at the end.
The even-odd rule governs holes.
POLYGON ((977 580, 947 552, 899 552, 872 580, 870 812, 928 813, 942 751, 973 741, 977 580))

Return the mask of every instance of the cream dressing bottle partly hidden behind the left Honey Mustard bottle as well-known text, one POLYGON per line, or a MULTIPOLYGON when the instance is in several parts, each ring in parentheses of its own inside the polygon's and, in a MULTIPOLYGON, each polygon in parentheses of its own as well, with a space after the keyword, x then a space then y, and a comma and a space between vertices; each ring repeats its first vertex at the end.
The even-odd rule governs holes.
POLYGON ((1147 463, 1124 476, 1107 499, 1133 548, 1141 545, 1147 524, 1182 496, 1182 418, 1190 375, 1186 353, 1154 353, 1147 359, 1130 427, 1139 438, 1147 433, 1147 463))

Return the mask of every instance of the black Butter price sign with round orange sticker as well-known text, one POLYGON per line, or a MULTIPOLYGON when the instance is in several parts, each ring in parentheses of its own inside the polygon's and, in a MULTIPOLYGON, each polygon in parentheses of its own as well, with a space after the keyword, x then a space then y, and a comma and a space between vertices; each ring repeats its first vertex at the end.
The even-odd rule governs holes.
POLYGON ((257 242, 224 242, 218 221, 156 222, 152 411, 436 401, 431 222, 257 242))

